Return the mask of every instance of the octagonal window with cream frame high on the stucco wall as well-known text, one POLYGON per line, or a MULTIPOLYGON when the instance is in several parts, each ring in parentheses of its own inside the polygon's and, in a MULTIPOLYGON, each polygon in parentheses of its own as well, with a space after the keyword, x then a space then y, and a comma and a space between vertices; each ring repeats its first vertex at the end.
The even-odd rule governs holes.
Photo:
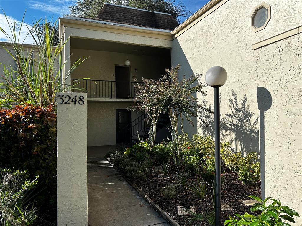
POLYGON ((251 29, 253 31, 257 32, 264 29, 271 19, 271 7, 265 2, 262 2, 253 9, 250 18, 251 29))

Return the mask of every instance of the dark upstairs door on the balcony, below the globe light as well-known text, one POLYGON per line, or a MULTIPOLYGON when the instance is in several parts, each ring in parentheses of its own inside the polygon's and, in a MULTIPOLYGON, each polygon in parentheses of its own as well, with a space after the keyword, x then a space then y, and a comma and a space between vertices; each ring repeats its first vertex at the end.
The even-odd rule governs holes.
POLYGON ((128 98, 130 96, 130 67, 115 66, 115 92, 116 98, 128 98))

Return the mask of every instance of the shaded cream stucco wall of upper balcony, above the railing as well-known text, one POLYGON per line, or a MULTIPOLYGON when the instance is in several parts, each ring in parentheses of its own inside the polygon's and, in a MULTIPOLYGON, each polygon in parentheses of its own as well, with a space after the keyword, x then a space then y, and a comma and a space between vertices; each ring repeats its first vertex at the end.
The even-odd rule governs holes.
MULTIPOLYGON (((85 49, 71 49, 71 64, 81 57, 89 57, 78 68, 72 72, 72 78, 91 78, 93 80, 109 80, 115 81, 115 65, 124 65, 127 58, 125 53, 104 52, 85 49)), ((162 74, 165 74, 165 68, 170 67, 169 58, 164 58, 161 55, 131 55, 128 54, 128 59, 131 61, 130 78, 136 77, 141 82, 144 78, 159 79, 162 74), (138 72, 135 72, 135 69, 138 72)))

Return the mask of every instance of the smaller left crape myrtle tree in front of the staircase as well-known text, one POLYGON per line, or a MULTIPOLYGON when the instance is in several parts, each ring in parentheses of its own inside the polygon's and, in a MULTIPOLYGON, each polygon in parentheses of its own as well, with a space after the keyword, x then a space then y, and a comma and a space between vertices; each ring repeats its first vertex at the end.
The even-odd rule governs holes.
MULTIPOLYGON (((137 82, 137 79, 134 78, 137 82)), ((135 85, 134 103, 129 109, 143 112, 147 114, 147 121, 151 121, 149 130, 149 143, 154 145, 156 138, 156 124, 160 113, 163 111, 161 103, 162 81, 155 79, 142 79, 143 84, 137 83, 135 85)))

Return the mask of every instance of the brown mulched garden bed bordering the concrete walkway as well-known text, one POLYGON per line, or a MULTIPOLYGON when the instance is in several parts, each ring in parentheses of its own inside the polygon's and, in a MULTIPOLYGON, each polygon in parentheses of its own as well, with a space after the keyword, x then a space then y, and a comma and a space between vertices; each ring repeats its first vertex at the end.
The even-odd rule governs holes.
MULTIPOLYGON (((109 156, 107 156, 109 157, 109 156)), ((125 155, 122 156, 126 159, 125 155)), ((130 158, 130 157, 129 157, 130 158)), ((130 158, 132 159, 132 158, 130 158)), ((135 159, 135 158, 134 158, 135 159)), ((114 163, 114 160, 111 160, 114 163)), ((142 163, 143 164, 143 163, 142 163)), ((152 199, 162 210, 164 210, 172 219, 174 219, 179 225, 209 225, 207 221, 195 221, 191 224, 190 217, 186 215, 177 215, 177 206, 184 206, 189 209, 190 206, 196 206, 197 213, 212 212, 213 202, 211 194, 213 193, 212 185, 205 182, 206 195, 204 199, 200 199, 193 194, 188 188, 182 188, 177 186, 179 184, 179 178, 176 174, 185 172, 186 169, 183 164, 176 167, 173 164, 172 159, 162 165, 169 165, 169 172, 167 175, 161 175, 155 170, 155 166, 159 162, 154 162, 154 167, 150 168, 148 172, 145 172, 145 177, 133 178, 129 176, 129 172, 125 170, 123 164, 120 162, 114 163, 114 167, 120 171, 123 177, 130 182, 136 189, 142 190, 143 193, 152 199), (169 185, 175 185, 175 198, 167 199, 162 195, 162 188, 169 185)), ((242 203, 243 200, 250 199, 248 195, 261 196, 260 183, 244 184, 238 179, 238 174, 235 171, 229 169, 222 169, 223 183, 221 186, 221 202, 228 204, 231 210, 221 211, 221 222, 223 223, 229 218, 229 215, 233 216, 235 213, 243 214, 249 212, 251 206, 247 206, 242 203)), ((202 176, 199 176, 202 180, 202 176)), ((190 176, 186 184, 198 184, 196 176, 190 176)))

